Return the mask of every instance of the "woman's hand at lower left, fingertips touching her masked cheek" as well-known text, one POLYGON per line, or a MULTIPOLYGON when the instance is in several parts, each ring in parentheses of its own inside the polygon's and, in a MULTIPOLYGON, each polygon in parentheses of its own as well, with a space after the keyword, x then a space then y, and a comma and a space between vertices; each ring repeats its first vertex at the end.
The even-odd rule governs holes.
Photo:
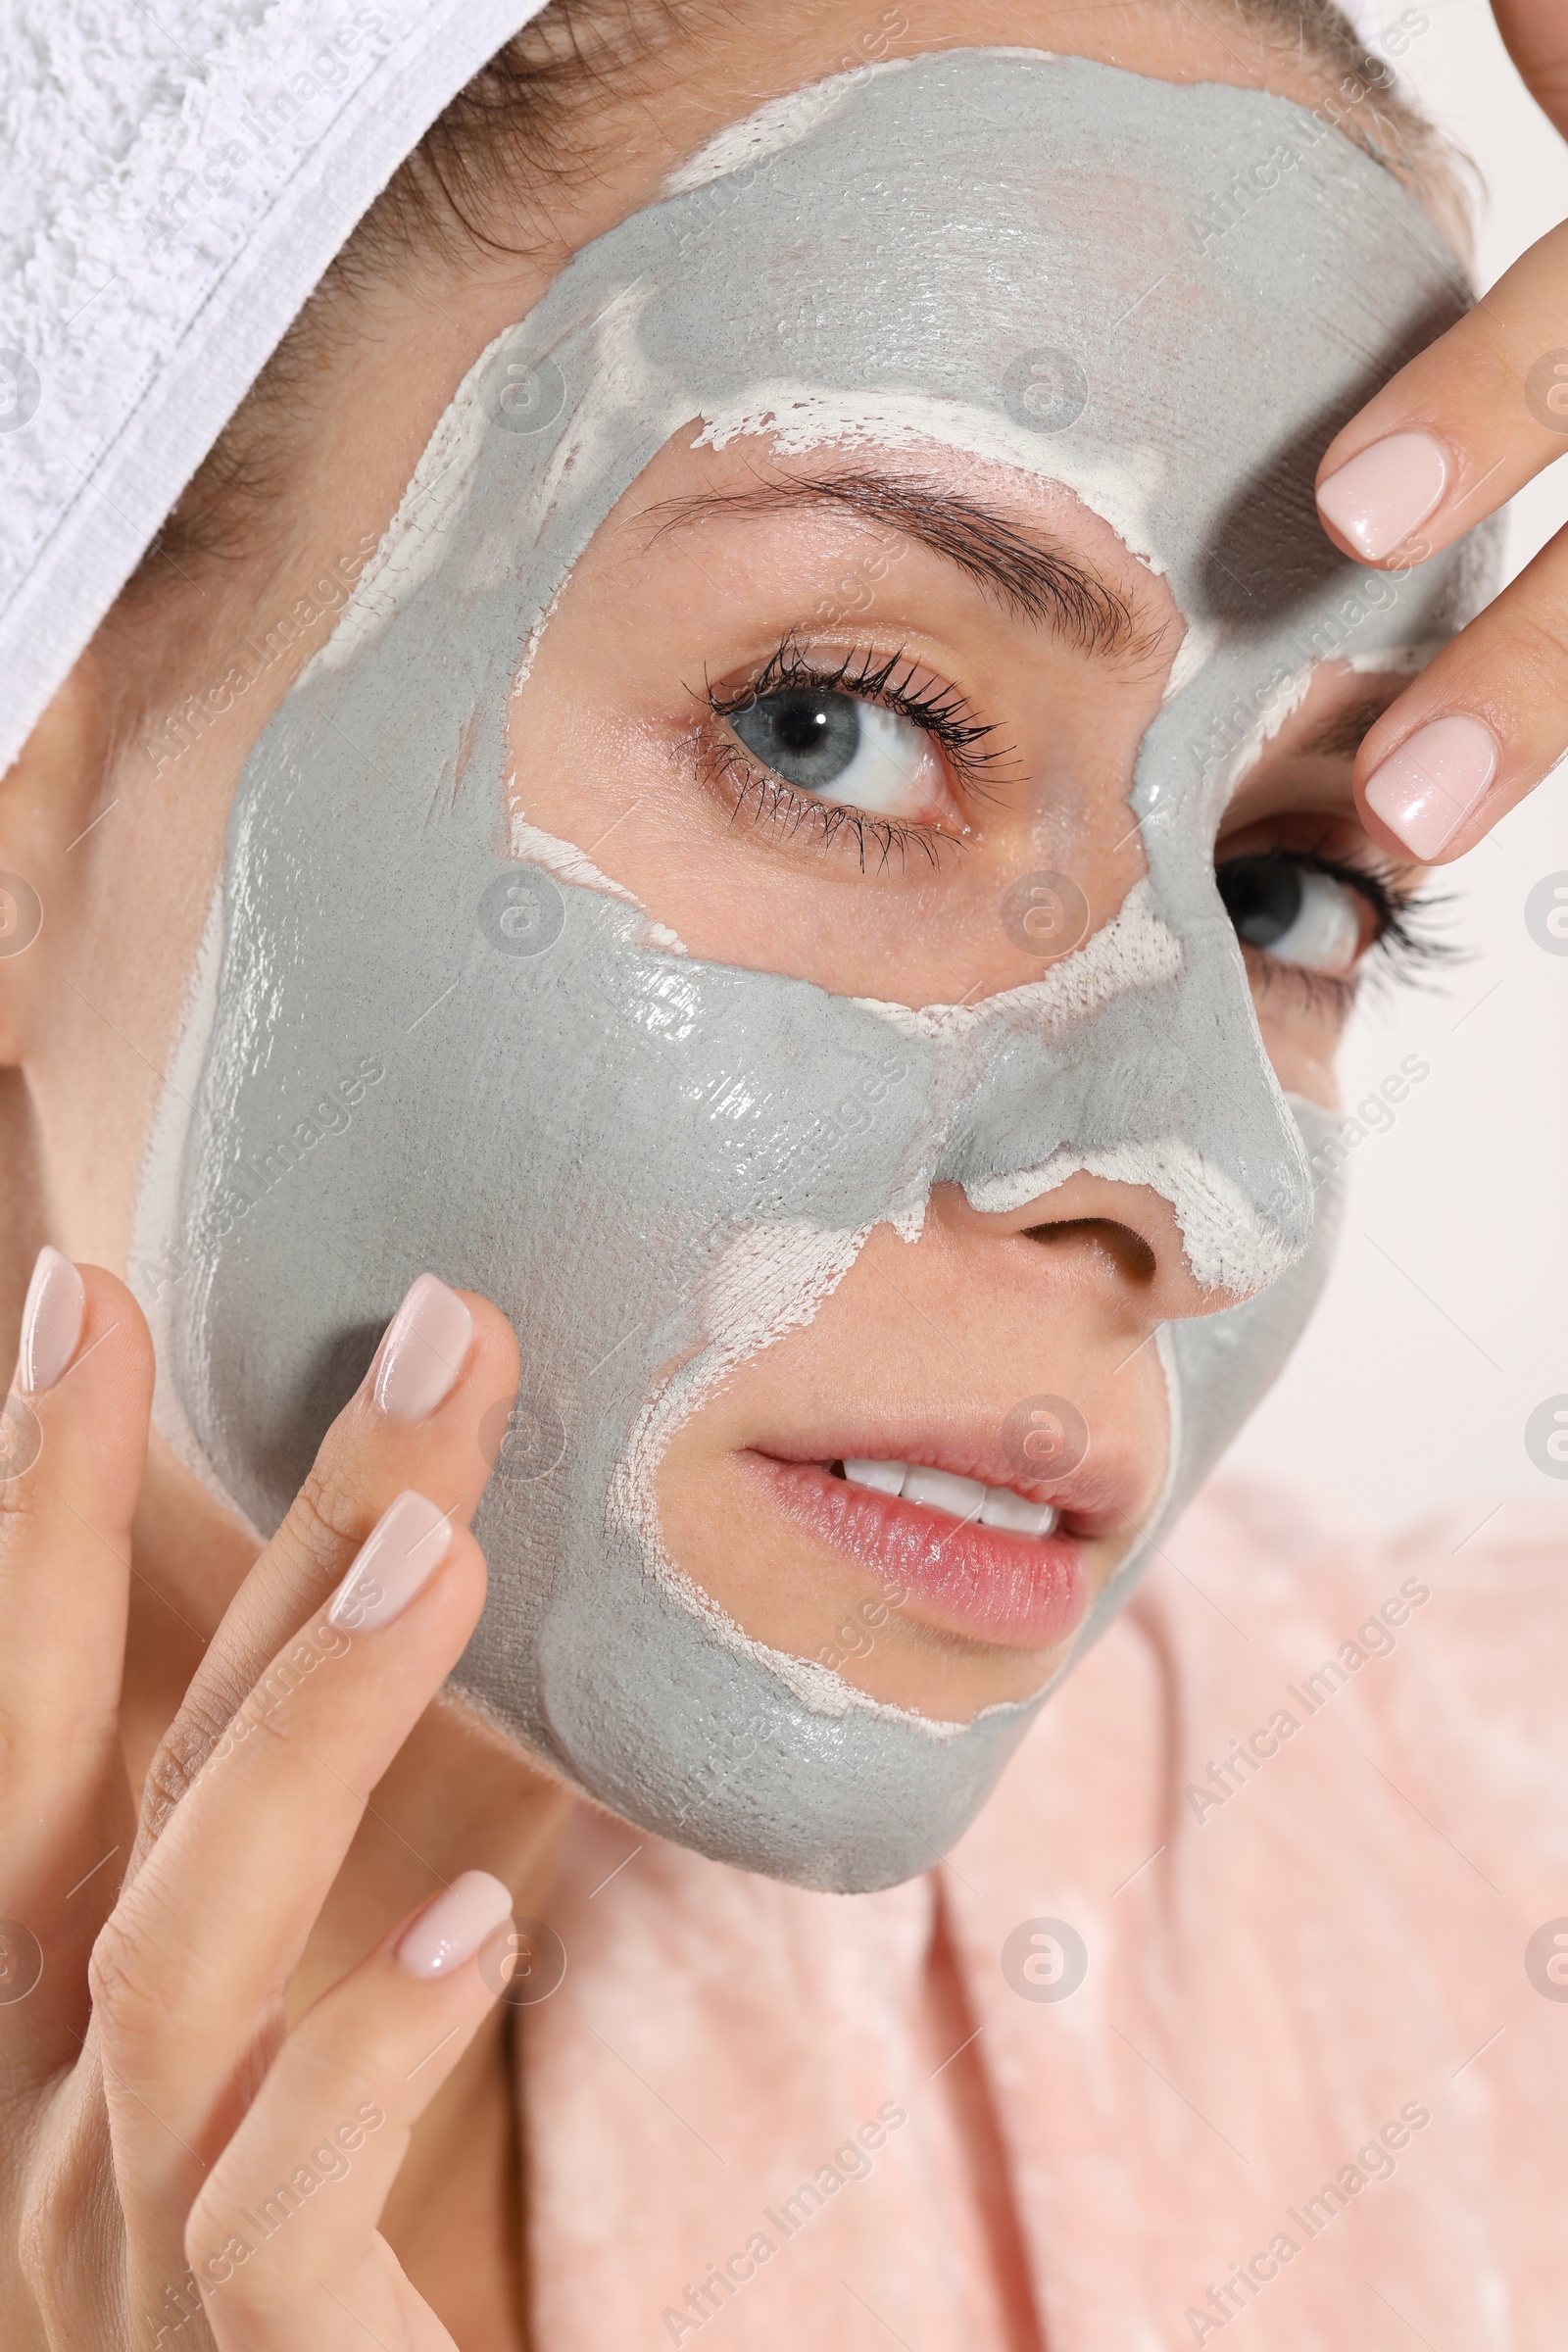
POLYGON ((0 1425, 7 2352, 451 2345, 376 2220, 501 1990, 508 1889, 465 1872, 292 2030, 284 1990, 480 1616, 463 1522, 515 1378, 505 1319, 421 1277, 212 1639, 136 1842, 118 1710, 153 1352, 113 1275, 45 1251, 0 1425))

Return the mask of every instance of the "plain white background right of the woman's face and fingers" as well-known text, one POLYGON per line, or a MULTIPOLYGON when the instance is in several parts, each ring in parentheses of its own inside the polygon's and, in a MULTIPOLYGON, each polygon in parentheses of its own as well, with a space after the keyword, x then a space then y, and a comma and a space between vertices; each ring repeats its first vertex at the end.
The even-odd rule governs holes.
MULTIPOLYGON (((1382 0, 1382 24, 1403 9, 1382 0)), ((1375 16, 1378 0, 1356 14, 1375 16)), ((1486 289, 1568 216, 1568 146, 1486 0, 1422 0, 1418 14, 1429 26, 1399 71, 1481 169, 1486 289)), ((1509 576, 1566 520, 1559 461, 1509 510, 1509 576)), ((1349 1105, 1403 1054, 1432 1075, 1392 1131, 1352 1152, 1331 1289, 1227 1468, 1328 1491, 1385 1526, 1460 1501, 1476 1519, 1514 1498, 1568 1501, 1523 1449, 1533 1406, 1568 1392, 1568 955, 1523 927, 1528 889, 1556 870, 1568 870, 1568 764, 1446 870, 1453 936, 1474 960, 1439 993, 1401 985, 1356 1011, 1349 1105)))

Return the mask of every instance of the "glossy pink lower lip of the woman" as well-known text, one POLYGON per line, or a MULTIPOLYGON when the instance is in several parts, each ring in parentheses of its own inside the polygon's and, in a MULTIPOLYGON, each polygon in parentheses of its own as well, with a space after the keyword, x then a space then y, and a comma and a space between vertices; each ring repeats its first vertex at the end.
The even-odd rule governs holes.
POLYGON ((1053 1649, 1084 1616, 1088 1576, 1074 1534, 1018 1536, 835 1477, 820 1461, 738 1456, 802 1534, 907 1595, 929 1625, 1016 1649, 1053 1649))

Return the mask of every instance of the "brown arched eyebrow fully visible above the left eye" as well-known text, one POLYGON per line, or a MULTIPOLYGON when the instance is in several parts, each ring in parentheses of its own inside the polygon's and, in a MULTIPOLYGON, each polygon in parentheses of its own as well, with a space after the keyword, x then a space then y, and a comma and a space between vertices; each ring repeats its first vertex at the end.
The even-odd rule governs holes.
MULTIPOLYGON (((1143 652, 1147 630, 1121 590, 1051 539, 1020 532, 1006 515, 917 475, 825 473, 757 482, 752 489, 698 492, 646 510, 654 539, 710 515, 773 515, 795 506, 837 506, 865 522, 905 532, 943 555, 1009 612, 1086 654, 1143 652)), ((649 541, 651 543, 651 541, 649 541)))

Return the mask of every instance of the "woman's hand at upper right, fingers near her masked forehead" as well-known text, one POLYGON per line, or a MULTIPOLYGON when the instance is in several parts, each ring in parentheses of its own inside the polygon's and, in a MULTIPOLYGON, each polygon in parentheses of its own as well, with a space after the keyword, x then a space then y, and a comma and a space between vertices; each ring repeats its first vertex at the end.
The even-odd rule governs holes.
MULTIPOLYGON (((1563 0, 1493 0, 1537 103, 1568 134, 1563 0)), ((1366 564, 1446 548, 1568 452, 1568 221, 1328 445, 1319 513, 1366 564)), ((1568 532, 1406 687, 1356 760, 1368 830, 1448 863, 1568 746, 1568 532)))

